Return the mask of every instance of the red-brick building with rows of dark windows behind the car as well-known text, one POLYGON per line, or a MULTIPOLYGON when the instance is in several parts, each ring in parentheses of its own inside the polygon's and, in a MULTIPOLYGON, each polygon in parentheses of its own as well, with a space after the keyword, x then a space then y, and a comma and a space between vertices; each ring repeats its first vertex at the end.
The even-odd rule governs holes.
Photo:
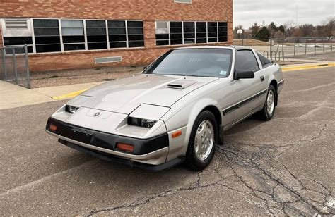
POLYGON ((28 44, 32 71, 144 65, 175 46, 232 42, 233 0, 0 0, 0 46, 28 44))

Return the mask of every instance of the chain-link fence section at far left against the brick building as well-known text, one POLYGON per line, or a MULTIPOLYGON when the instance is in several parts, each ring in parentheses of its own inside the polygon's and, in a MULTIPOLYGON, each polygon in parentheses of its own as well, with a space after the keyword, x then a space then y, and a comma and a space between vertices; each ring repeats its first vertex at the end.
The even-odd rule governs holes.
POLYGON ((27 45, 0 48, 0 80, 30 88, 27 45))

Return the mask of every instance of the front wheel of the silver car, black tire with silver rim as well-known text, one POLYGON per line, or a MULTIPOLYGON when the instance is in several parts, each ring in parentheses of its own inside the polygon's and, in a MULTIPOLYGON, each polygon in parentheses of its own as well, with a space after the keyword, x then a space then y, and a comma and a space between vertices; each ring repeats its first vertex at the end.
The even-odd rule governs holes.
POLYGON ((184 164, 193 171, 201 171, 211 163, 216 142, 218 141, 218 125, 210 111, 202 111, 196 118, 184 164))

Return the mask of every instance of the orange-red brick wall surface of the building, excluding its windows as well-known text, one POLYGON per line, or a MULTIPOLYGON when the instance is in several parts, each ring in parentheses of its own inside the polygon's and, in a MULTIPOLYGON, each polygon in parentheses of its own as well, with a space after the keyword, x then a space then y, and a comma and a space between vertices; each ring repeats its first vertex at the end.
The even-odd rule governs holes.
POLYGON ((32 71, 148 64, 172 47, 155 46, 155 20, 227 21, 228 43, 220 45, 233 43, 233 0, 193 0, 192 4, 177 4, 174 0, 1 0, 0 2, 0 18, 100 18, 144 21, 145 48, 31 54, 32 71), (94 63, 94 58, 106 56, 122 56, 122 62, 94 63))

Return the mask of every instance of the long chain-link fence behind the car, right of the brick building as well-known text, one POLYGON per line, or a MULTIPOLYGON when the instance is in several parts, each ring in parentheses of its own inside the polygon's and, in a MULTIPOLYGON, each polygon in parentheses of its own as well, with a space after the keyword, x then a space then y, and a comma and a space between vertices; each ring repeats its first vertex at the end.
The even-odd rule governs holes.
POLYGON ((332 38, 273 38, 269 42, 256 39, 234 40, 235 45, 251 46, 274 61, 285 61, 286 57, 323 54, 335 51, 332 38))

